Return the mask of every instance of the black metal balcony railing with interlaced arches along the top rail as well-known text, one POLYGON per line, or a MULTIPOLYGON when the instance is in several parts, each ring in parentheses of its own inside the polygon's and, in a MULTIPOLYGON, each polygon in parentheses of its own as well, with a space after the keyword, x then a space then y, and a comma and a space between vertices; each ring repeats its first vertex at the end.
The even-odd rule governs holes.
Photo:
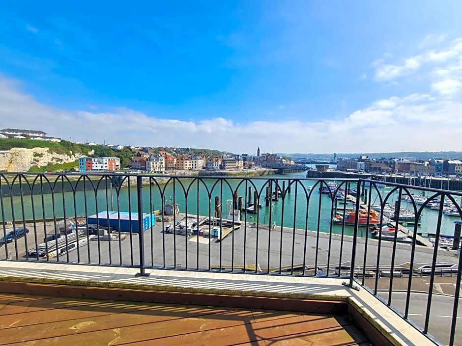
POLYGON ((344 278, 454 345, 461 200, 296 175, 3 173, 0 259, 344 278))

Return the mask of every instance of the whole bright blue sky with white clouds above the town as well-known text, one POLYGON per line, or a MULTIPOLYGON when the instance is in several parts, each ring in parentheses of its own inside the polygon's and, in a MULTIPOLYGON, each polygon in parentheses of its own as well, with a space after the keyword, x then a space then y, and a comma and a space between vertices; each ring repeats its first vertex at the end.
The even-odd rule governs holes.
POLYGON ((234 152, 462 150, 460 13, 460 1, 2 3, 0 126, 234 152))

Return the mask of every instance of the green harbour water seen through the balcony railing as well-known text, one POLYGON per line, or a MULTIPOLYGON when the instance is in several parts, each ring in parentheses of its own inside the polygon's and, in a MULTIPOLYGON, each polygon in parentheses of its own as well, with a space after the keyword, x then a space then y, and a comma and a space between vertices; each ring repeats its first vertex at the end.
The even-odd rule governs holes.
MULTIPOLYGON (((269 178, 278 179, 280 186, 282 186, 283 181, 286 181, 287 187, 288 179, 303 178, 304 176, 305 173, 300 172, 284 176, 271 176, 269 178)), ((163 195, 165 203, 168 204, 174 200, 179 205, 180 213, 213 215, 215 197, 219 196, 222 200, 222 216, 226 218, 231 208, 231 202, 228 200, 232 199, 232 191, 239 185, 237 188, 239 197, 244 198, 245 204, 248 201, 248 196, 246 195, 248 186, 252 186, 253 191, 257 190, 259 192, 261 196, 260 204, 263 205, 259 213, 258 221, 260 223, 267 224, 271 217, 271 223, 275 222, 277 226, 283 224, 285 227, 294 227, 295 225, 295 228, 305 229, 307 227, 309 230, 319 230, 320 232, 330 232, 332 228, 334 233, 342 232, 341 225, 331 225, 332 202, 328 195, 319 194, 318 186, 313 188, 308 205, 306 195, 306 193, 310 193, 308 186, 314 186, 316 181, 298 181, 296 186, 291 186, 291 192, 286 195, 284 207, 280 198, 279 201, 272 201, 271 208, 264 206, 263 197, 265 196, 265 187, 268 186, 267 180, 253 179, 252 183, 254 186, 250 182, 246 186, 245 181, 242 182, 240 179, 231 178, 217 183, 216 179, 210 178, 202 179, 201 181, 195 179, 176 180, 175 184, 161 185, 160 187, 156 185, 143 186, 143 212, 147 213, 161 209, 163 204, 161 196, 163 195)), ((386 189, 381 191, 382 194, 387 192, 386 189)), ((253 202, 253 196, 251 200, 253 202)), ((371 200, 373 203, 378 204, 375 191, 371 200)), ((395 200, 396 196, 389 199, 390 203, 394 203, 395 200)), ((37 220, 42 219, 44 216, 46 218, 54 216, 62 218, 64 215, 66 217, 89 216, 106 210, 138 211, 137 190, 135 187, 122 188, 120 191, 115 188, 112 191, 110 189, 100 189, 97 191, 96 197, 94 191, 89 190, 77 191, 75 197, 72 192, 55 193, 54 196, 44 194, 43 200, 41 195, 34 195, 32 198, 24 196, 22 200, 21 197, 3 197, 1 198, 1 203, 3 204, 2 214, 0 215, 1 220, 12 220, 13 214, 15 220, 21 220, 23 219, 23 209, 25 219, 35 217, 37 220)), ((402 207, 405 207, 405 202, 402 207)), ((352 208, 352 206, 349 206, 349 208, 352 208)), ((437 215, 438 211, 426 209, 422 215, 422 226, 419 227, 419 231, 434 233, 437 215)), ((243 217, 245 217, 245 214, 243 217)), ((453 221, 456 220, 458 218, 443 215, 442 233, 453 234, 453 221)), ((257 215, 248 214, 247 221, 257 221, 257 215)), ((345 226, 344 232, 346 235, 351 235, 353 227, 345 226)), ((361 233, 364 236, 366 230, 361 229, 361 233)))

